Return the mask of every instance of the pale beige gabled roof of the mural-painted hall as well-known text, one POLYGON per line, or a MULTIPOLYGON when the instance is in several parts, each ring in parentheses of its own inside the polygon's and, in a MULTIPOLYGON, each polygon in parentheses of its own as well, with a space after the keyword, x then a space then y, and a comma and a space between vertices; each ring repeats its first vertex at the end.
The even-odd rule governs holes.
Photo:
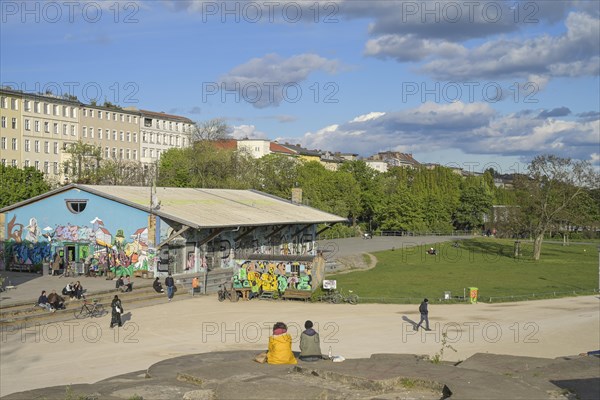
MULTIPOLYGON (((76 188, 137 209, 150 212, 150 188, 143 186, 92 186, 70 184, 0 210, 10 211, 57 193, 76 188)), ((161 218, 179 222, 195 229, 291 225, 345 222, 302 204, 255 190, 156 188, 160 208, 153 211, 161 218)))

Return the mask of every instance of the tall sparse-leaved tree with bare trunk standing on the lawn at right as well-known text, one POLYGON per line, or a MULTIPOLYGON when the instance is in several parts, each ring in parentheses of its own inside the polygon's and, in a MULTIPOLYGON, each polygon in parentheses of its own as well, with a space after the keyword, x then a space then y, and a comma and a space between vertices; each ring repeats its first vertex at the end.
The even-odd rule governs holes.
POLYGON ((578 207, 576 200, 599 187, 599 175, 587 161, 574 161, 555 155, 535 157, 528 175, 519 176, 515 186, 521 194, 523 216, 528 218, 534 236, 533 259, 539 260, 544 234, 570 219, 578 207))

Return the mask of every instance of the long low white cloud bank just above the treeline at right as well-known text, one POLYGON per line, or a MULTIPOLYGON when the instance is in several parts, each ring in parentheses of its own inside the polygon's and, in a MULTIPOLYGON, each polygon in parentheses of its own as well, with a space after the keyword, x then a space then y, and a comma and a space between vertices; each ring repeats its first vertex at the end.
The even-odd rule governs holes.
POLYGON ((369 113, 343 124, 307 132, 308 148, 363 156, 397 150, 426 157, 436 152, 530 157, 557 153, 592 159, 600 143, 599 119, 571 121, 568 109, 525 110, 499 115, 487 103, 435 104, 388 113, 369 113), (375 116, 376 115, 376 116, 375 116))

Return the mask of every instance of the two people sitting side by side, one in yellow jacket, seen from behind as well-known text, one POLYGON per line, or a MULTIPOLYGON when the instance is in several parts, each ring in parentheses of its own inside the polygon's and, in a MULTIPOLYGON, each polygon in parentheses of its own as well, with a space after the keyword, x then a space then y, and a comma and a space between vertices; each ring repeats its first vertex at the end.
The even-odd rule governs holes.
MULTIPOLYGON (((300 335, 300 354, 302 361, 319 361, 321 354, 319 333, 313 329, 312 321, 304 323, 304 331, 300 335)), ((269 364, 297 364, 298 360, 292 352, 292 336, 287 333, 287 325, 277 322, 273 325, 273 335, 269 337, 269 350, 266 354, 269 364)))

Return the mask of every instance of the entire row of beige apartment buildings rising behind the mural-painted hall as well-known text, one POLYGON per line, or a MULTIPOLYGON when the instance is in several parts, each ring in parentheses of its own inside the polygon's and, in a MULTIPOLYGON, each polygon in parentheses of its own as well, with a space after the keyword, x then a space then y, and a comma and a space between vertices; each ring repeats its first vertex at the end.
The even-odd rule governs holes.
POLYGON ((52 94, 0 88, 0 162, 35 167, 64 183, 64 150, 81 140, 102 149, 103 159, 155 163, 170 148, 190 145, 194 122, 135 107, 83 104, 52 94))

